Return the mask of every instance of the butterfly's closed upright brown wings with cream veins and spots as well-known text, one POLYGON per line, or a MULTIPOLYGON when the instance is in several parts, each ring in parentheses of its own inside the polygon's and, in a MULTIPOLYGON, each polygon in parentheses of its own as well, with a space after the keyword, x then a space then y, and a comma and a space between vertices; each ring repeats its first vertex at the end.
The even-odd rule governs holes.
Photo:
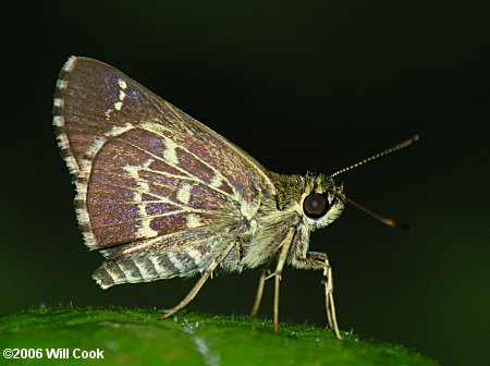
POLYGON ((243 150, 99 61, 66 62, 53 114, 90 248, 237 228, 274 193, 243 150))

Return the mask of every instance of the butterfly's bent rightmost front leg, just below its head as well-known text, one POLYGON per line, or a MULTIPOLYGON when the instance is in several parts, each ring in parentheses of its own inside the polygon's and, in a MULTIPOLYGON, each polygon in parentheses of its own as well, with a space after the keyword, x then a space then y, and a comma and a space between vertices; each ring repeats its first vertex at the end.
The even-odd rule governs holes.
POLYGON ((304 265, 308 265, 311 269, 322 269, 324 285, 324 298, 326 298, 326 310, 327 310, 327 321, 329 328, 333 330, 335 337, 339 340, 343 340, 339 325, 336 322, 335 314, 335 303, 333 302, 333 274, 332 267, 330 266, 329 258, 326 253, 309 252, 307 258, 296 258, 296 260, 302 261, 304 265))

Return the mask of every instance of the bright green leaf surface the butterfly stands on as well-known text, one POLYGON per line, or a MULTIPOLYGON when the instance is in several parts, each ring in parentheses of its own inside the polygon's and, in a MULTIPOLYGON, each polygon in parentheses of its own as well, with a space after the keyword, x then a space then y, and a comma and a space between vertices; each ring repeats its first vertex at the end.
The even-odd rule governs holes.
POLYGON ((274 333, 270 320, 180 313, 159 321, 158 315, 41 307, 1 317, 0 344, 41 350, 41 358, 13 359, 14 365, 60 364, 49 362, 47 349, 69 349, 63 365, 437 365, 401 345, 347 333, 341 342, 331 331, 307 325, 281 324, 274 333), (76 359, 77 349, 101 350, 103 361, 76 359))

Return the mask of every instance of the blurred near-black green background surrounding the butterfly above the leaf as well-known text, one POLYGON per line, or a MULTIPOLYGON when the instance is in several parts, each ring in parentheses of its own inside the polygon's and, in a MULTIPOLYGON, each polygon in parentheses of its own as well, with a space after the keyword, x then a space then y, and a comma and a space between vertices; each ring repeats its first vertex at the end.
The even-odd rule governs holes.
MULTIPOLYGON (((353 207, 313 234, 340 326, 448 365, 489 362, 488 1, 2 3, 0 313, 174 305, 194 280, 100 290, 51 126, 71 54, 117 66, 283 173, 345 173, 353 207)), ((257 271, 209 281, 189 309, 247 314, 257 271)), ((287 269, 281 319, 324 325, 320 273, 287 269)), ((271 317, 271 284, 260 315, 271 317)), ((27 346, 27 345, 26 345, 27 346)))

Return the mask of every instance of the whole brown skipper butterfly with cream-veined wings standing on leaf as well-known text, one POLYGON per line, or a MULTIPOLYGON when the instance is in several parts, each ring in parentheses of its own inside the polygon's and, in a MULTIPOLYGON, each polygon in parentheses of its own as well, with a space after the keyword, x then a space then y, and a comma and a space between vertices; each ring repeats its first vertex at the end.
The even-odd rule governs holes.
POLYGON ((352 203, 333 176, 417 139, 331 175, 279 174, 122 72, 84 57, 71 57, 60 71, 53 125, 85 244, 105 257, 93 274, 102 289, 200 276, 160 317, 167 318, 215 271, 241 272, 277 259, 271 272, 262 271, 253 315, 265 281, 274 278, 279 330, 284 266, 320 270, 328 325, 339 339, 332 269, 324 253, 309 251, 310 233, 352 203))

